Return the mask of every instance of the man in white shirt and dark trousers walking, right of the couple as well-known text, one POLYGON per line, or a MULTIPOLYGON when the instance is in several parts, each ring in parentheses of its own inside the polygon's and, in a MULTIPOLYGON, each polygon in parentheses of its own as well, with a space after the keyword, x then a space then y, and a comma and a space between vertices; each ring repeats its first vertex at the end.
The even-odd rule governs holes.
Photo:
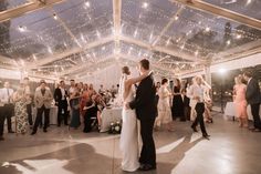
POLYGON ((192 125, 191 125, 191 129, 195 131, 195 132, 198 132, 196 126, 199 122, 200 124, 200 129, 201 129, 201 133, 202 133, 202 136, 205 139, 208 139, 209 135, 206 131, 206 127, 205 127, 205 122, 203 122, 203 112, 205 112, 205 103, 203 103, 203 86, 202 86, 202 78, 201 76, 196 76, 196 84, 194 84, 191 86, 191 96, 192 99, 197 102, 196 106, 195 106, 195 110, 197 112, 197 117, 196 120, 194 121, 192 125))

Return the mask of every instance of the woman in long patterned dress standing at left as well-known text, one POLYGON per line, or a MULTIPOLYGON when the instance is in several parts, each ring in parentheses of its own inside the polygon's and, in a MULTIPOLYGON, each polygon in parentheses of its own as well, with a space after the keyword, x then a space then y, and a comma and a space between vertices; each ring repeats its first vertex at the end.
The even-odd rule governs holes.
POLYGON ((15 132, 25 134, 28 129, 27 93, 24 82, 20 83, 18 90, 13 93, 15 132))

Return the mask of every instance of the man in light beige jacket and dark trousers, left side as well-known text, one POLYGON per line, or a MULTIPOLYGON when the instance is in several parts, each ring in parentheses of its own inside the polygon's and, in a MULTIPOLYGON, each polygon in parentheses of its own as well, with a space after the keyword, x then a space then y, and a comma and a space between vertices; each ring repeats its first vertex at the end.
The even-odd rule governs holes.
POLYGON ((33 132, 31 135, 34 135, 38 132, 38 126, 42 121, 42 114, 44 113, 44 126, 43 132, 48 132, 48 124, 49 124, 49 114, 52 104, 52 93, 49 88, 46 88, 46 82, 41 80, 40 88, 35 91, 34 94, 34 103, 36 106, 36 119, 33 125, 33 132))

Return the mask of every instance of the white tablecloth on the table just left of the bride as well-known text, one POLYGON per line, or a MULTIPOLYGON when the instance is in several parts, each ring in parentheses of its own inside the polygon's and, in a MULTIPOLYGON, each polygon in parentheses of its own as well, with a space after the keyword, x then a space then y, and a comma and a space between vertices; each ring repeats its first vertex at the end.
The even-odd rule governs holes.
POLYGON ((122 109, 104 109, 102 112, 102 125, 101 132, 106 132, 109 130, 109 125, 112 122, 117 122, 122 120, 122 109))

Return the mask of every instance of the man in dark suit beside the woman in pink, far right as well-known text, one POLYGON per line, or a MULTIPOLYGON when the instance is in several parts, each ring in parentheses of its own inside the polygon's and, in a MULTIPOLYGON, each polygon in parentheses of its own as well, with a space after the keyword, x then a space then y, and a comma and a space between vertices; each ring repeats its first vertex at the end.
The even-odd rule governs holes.
POLYGON ((248 104, 250 104, 251 106, 251 113, 253 115, 253 131, 261 132, 261 121, 259 115, 261 94, 259 83, 255 79, 252 78, 251 72, 244 72, 243 78, 248 82, 246 98, 248 104))

